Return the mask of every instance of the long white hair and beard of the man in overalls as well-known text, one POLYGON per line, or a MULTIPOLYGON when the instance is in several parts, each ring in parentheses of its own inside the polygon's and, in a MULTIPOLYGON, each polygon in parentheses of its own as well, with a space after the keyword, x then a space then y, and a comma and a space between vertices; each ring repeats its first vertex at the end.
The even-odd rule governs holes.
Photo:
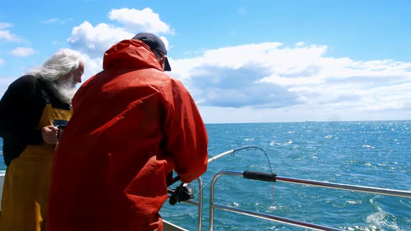
POLYGON ((72 83, 73 74, 70 78, 62 81, 60 77, 76 70, 82 62, 82 54, 72 49, 59 49, 51 58, 39 67, 33 67, 27 74, 44 80, 52 88, 56 97, 61 101, 71 104, 75 95, 75 83, 72 83))

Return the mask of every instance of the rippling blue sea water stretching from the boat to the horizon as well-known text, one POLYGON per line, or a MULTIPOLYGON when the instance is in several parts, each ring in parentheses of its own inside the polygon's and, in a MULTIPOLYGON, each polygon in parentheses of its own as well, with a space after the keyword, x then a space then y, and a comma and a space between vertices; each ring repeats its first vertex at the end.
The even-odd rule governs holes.
MULTIPOLYGON (((206 125, 209 157, 243 146, 209 164, 203 182, 203 230, 208 230, 210 180, 222 170, 276 173, 279 177, 411 191, 411 121, 289 122, 206 125), (271 168, 270 168, 271 166, 271 168)), ((1 158, 2 161, 2 158, 1 158)), ((0 162, 0 169, 5 168, 0 162)), ((190 184, 198 193, 196 181, 190 184)), ((172 187, 178 186, 173 184, 172 187)), ((198 197, 198 195, 196 195, 198 197)), ((195 198, 194 200, 197 200, 195 198)), ((223 175, 215 202, 343 230, 411 230, 411 198, 258 182, 223 175)), ((169 205, 162 217, 196 230, 197 207, 169 205)), ((215 230, 305 230, 215 210, 215 230)))

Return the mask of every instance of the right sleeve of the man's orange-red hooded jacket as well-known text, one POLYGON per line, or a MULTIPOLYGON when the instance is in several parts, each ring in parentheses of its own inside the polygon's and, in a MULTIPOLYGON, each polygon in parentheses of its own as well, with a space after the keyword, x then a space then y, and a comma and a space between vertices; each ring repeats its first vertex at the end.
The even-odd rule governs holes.
POLYGON ((164 131, 166 152, 184 182, 192 182, 207 170, 208 136, 194 99, 178 80, 171 81, 172 99, 164 131))

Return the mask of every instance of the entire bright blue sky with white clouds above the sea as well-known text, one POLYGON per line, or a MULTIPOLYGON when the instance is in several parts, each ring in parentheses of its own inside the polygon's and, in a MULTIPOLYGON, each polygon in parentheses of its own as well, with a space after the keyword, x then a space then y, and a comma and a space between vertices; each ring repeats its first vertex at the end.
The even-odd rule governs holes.
POLYGON ((0 95, 59 48, 160 35, 206 123, 411 119, 411 1, 1 1, 0 95))

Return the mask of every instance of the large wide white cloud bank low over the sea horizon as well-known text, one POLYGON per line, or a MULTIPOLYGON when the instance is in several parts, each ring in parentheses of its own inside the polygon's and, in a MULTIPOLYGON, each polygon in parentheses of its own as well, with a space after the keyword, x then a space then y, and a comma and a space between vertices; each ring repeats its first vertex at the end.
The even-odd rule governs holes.
MULTIPOLYGON (((282 121, 410 115, 411 63, 354 61, 327 57, 326 52, 326 46, 302 42, 295 47, 278 42, 223 47, 195 58, 171 59, 171 74, 185 83, 206 111, 242 113, 233 116, 237 122, 278 121, 277 113, 283 115, 282 121)), ((206 115, 208 121, 215 118, 213 113, 206 115)))

